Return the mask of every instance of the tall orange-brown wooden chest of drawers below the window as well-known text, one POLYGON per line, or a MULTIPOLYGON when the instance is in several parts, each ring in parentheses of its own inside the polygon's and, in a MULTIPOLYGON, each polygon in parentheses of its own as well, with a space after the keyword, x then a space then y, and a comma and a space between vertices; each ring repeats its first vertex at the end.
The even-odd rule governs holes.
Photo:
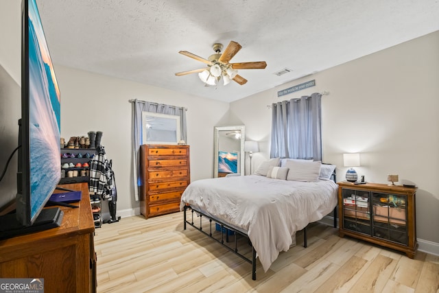
POLYGON ((190 183, 189 145, 141 145, 141 204, 145 218, 180 211, 190 183))

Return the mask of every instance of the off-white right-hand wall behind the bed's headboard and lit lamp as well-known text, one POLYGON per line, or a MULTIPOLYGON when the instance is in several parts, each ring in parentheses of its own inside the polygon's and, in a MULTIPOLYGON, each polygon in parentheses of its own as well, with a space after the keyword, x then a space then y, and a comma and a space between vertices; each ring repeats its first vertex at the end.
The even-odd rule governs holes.
POLYGON ((438 65, 435 32, 233 102, 231 119, 246 126, 246 139, 261 142, 252 162, 257 166, 270 156, 267 105, 329 91, 322 97, 324 162, 339 166, 338 180, 344 180, 342 154, 360 152, 355 169, 367 181, 387 184, 387 174, 396 173, 400 181, 416 183, 418 239, 439 254, 438 65), (277 91, 313 79, 313 88, 277 97, 277 91))

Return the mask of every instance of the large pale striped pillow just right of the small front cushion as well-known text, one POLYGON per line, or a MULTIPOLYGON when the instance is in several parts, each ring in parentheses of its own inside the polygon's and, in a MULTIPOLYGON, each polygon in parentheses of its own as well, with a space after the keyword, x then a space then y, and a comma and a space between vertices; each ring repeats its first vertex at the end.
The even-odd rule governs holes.
POLYGON ((316 182, 320 174, 320 161, 289 161, 287 180, 316 182))

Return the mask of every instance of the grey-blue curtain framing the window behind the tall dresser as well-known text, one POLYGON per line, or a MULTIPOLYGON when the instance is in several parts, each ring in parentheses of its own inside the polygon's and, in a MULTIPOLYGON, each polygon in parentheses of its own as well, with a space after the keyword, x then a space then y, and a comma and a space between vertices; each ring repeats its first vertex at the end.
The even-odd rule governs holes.
POLYGON ((142 144, 142 112, 152 112, 180 116, 180 139, 187 142, 186 108, 145 102, 132 101, 132 165, 134 174, 134 198, 139 200, 139 150, 142 144))

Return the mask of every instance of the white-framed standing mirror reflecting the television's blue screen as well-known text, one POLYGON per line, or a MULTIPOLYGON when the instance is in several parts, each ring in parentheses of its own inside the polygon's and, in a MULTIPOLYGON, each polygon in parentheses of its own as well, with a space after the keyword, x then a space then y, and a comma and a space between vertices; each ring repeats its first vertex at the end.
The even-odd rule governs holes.
POLYGON ((246 126, 215 127, 213 177, 244 175, 244 141, 246 126))

